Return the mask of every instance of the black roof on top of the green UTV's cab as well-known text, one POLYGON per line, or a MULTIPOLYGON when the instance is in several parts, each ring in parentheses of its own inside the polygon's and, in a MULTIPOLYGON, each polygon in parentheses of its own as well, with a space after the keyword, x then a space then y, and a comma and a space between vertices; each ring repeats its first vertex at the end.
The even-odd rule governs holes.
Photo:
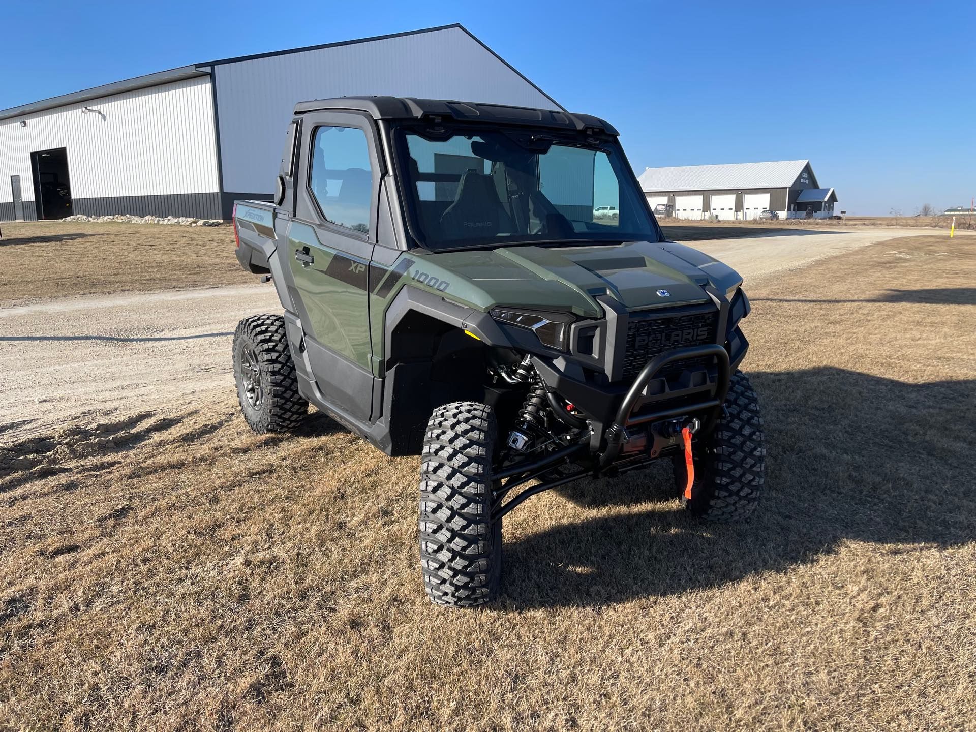
POLYGON ((451 117, 461 122, 531 125, 572 132, 594 128, 610 135, 618 135, 612 125, 589 114, 571 114, 555 109, 535 109, 506 104, 420 100, 414 97, 339 97, 331 100, 299 102, 295 105, 296 114, 321 109, 353 109, 366 112, 374 119, 451 117))

